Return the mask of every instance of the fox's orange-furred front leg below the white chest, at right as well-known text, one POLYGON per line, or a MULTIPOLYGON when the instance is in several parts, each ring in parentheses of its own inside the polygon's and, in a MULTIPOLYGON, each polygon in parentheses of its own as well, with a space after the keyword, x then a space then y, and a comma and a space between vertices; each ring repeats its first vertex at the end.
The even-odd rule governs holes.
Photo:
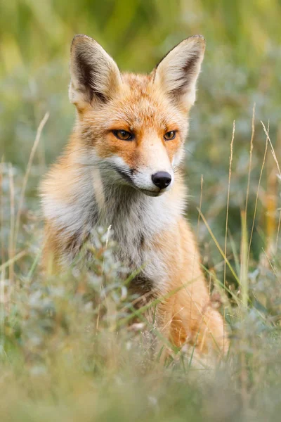
POLYGON ((173 231, 159 236, 157 246, 164 251, 169 276, 158 309, 160 330, 176 347, 191 345, 200 355, 223 356, 228 335, 221 314, 212 307, 188 223, 180 219, 173 231))

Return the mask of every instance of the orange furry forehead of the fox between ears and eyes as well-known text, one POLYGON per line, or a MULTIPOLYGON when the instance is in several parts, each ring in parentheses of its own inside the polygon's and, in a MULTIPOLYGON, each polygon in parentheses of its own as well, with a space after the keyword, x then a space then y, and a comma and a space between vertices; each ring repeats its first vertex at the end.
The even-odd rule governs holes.
POLYGON ((185 129, 186 112, 178 110, 162 91, 152 84, 151 75, 122 74, 122 86, 115 98, 100 106, 100 113, 87 107, 82 122, 97 124, 100 129, 125 129, 160 132, 185 129), (84 119, 83 119, 84 117, 84 119))

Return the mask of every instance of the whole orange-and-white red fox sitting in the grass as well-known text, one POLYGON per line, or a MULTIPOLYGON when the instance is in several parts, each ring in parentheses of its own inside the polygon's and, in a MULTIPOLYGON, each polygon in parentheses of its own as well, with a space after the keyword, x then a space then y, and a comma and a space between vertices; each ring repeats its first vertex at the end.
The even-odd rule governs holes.
POLYGON ((180 171, 204 49, 202 36, 184 39, 149 75, 135 75, 121 73, 90 37, 74 37, 69 96, 77 120, 41 184, 43 259, 63 267, 94 227, 111 225, 118 258, 142 269, 132 288, 163 298, 156 321, 166 339, 219 357, 228 338, 184 218, 180 171))

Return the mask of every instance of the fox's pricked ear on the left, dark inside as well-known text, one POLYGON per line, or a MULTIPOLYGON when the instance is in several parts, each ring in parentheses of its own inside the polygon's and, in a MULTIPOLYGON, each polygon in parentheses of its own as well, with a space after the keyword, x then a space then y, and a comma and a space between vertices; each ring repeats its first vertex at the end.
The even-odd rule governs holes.
POLYGON ((77 107, 108 101, 121 84, 115 61, 98 42, 86 35, 76 35, 72 40, 70 74, 70 102, 77 107))

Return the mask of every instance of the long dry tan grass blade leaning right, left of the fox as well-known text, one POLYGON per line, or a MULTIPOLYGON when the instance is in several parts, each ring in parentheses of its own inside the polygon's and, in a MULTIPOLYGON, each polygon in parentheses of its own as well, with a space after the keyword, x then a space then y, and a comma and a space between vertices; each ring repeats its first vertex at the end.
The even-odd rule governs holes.
POLYGON ((27 163, 27 170, 25 172, 25 177, 24 177, 23 182, 22 182, 22 190, 20 192, 20 199, 19 199, 19 203, 18 203, 18 213, 17 213, 17 217, 16 217, 16 221, 15 221, 15 235, 14 235, 15 248, 16 248, 17 239, 18 239, 18 230, 19 230, 19 227, 20 227, 20 214, 22 212, 22 204, 23 204, 23 199, 25 198, 25 190, 26 190, 26 187, 27 187, 28 177, 30 176, 30 170, 31 170, 33 159, 34 159, 34 155, 35 155, 35 152, 37 150, 37 146, 39 144, 39 141, 41 139, 42 130, 44 129, 44 126, 45 126, 45 124, 48 120, 48 117, 49 117, 49 113, 46 113, 44 115, 43 119, 41 120, 40 124, 39 124, 39 127, 37 129, 37 134, 36 134, 33 146, 32 146, 32 150, 30 151, 30 158, 29 158, 28 163, 27 163))

